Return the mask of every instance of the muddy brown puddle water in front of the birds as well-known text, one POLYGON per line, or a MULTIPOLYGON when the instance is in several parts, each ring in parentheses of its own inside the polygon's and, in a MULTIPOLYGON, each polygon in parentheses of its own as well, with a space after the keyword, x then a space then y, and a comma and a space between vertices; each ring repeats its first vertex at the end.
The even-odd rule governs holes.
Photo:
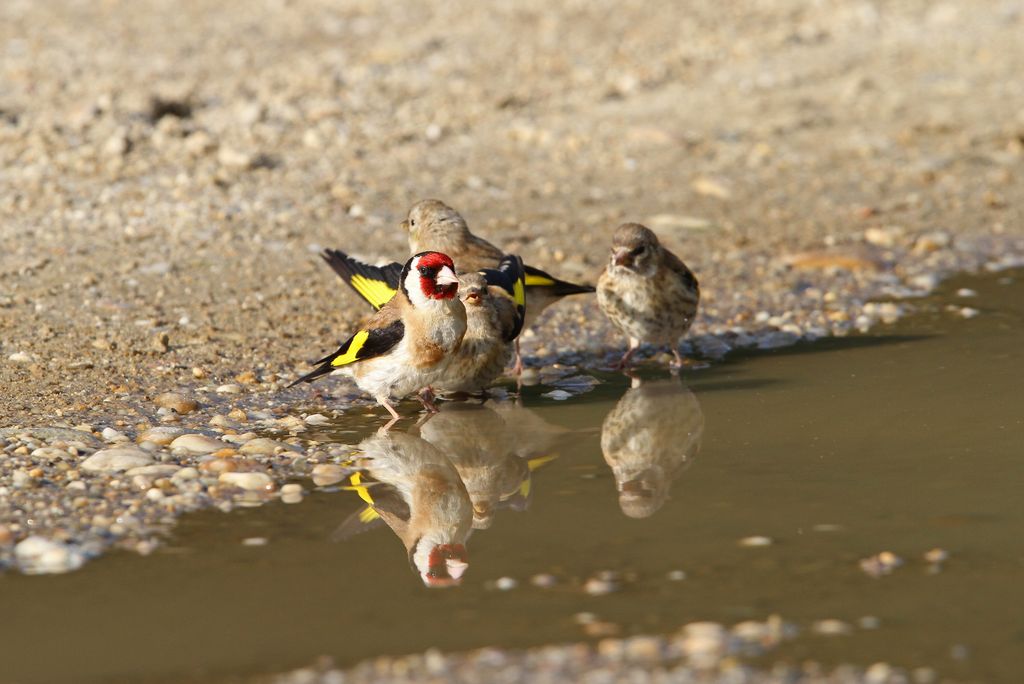
MULTIPOLYGON (((321 655, 527 647, 585 638, 573 616, 592 612, 623 635, 775 613, 802 631, 766 664, 884 660, 1020 681, 1024 273, 958 279, 920 303, 869 335, 737 353, 685 385, 646 369, 639 389, 602 375, 564 401, 534 387, 504 413, 446 410, 412 439, 503 454, 463 464, 490 468, 481 477, 500 491, 478 506, 489 527, 466 542, 457 589, 426 589, 387 527, 334 541, 365 508, 336 487, 187 516, 148 557, 2 575, 0 680, 224 681, 321 655), (962 287, 978 296, 956 297, 962 287), (739 544, 752 536, 773 543, 739 544), (937 572, 922 558, 936 547, 949 553, 937 572), (860 559, 882 551, 905 563, 868 576, 860 559), (621 590, 588 595, 601 570, 622 573, 621 590), (678 570, 685 580, 670 580, 678 570), (557 584, 531 586, 538 573, 557 584), (518 587, 495 589, 505 576, 518 587), (860 627, 865 616, 878 627, 860 627), (852 631, 814 634, 826 618, 852 631)), ((349 442, 371 432, 335 429, 349 442)))

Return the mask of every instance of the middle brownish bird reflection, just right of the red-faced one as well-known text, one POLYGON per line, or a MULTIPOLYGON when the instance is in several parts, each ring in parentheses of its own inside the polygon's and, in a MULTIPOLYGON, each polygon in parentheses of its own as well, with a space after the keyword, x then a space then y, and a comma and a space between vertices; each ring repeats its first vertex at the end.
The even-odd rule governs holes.
POLYGON ((473 502, 475 529, 489 527, 500 508, 525 508, 530 474, 555 458, 519 458, 517 434, 521 425, 507 423, 490 405, 447 403, 419 428, 424 439, 443 445, 462 476, 473 502))

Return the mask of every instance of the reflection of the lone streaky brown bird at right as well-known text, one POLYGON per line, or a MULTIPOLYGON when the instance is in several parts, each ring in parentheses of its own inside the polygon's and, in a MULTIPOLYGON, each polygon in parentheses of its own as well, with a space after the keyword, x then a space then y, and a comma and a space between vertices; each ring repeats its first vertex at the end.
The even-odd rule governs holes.
POLYGON ((700 451, 702 434, 700 404, 680 381, 634 380, 601 426, 623 513, 646 518, 662 508, 672 481, 700 451))

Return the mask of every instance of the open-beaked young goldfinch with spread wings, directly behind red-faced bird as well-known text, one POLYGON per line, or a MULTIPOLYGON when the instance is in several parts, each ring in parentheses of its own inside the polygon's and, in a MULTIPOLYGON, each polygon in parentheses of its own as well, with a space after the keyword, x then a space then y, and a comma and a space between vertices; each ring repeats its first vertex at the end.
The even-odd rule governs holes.
MULTIPOLYGON (((372 266, 339 250, 321 255, 349 287, 375 308, 394 295, 400 276, 397 263, 372 266)), ((513 341, 522 330, 525 314, 522 260, 505 255, 497 268, 464 271, 459 297, 466 307, 466 335, 450 359, 442 378, 433 383, 438 392, 478 392, 486 389, 505 370, 513 341)))

